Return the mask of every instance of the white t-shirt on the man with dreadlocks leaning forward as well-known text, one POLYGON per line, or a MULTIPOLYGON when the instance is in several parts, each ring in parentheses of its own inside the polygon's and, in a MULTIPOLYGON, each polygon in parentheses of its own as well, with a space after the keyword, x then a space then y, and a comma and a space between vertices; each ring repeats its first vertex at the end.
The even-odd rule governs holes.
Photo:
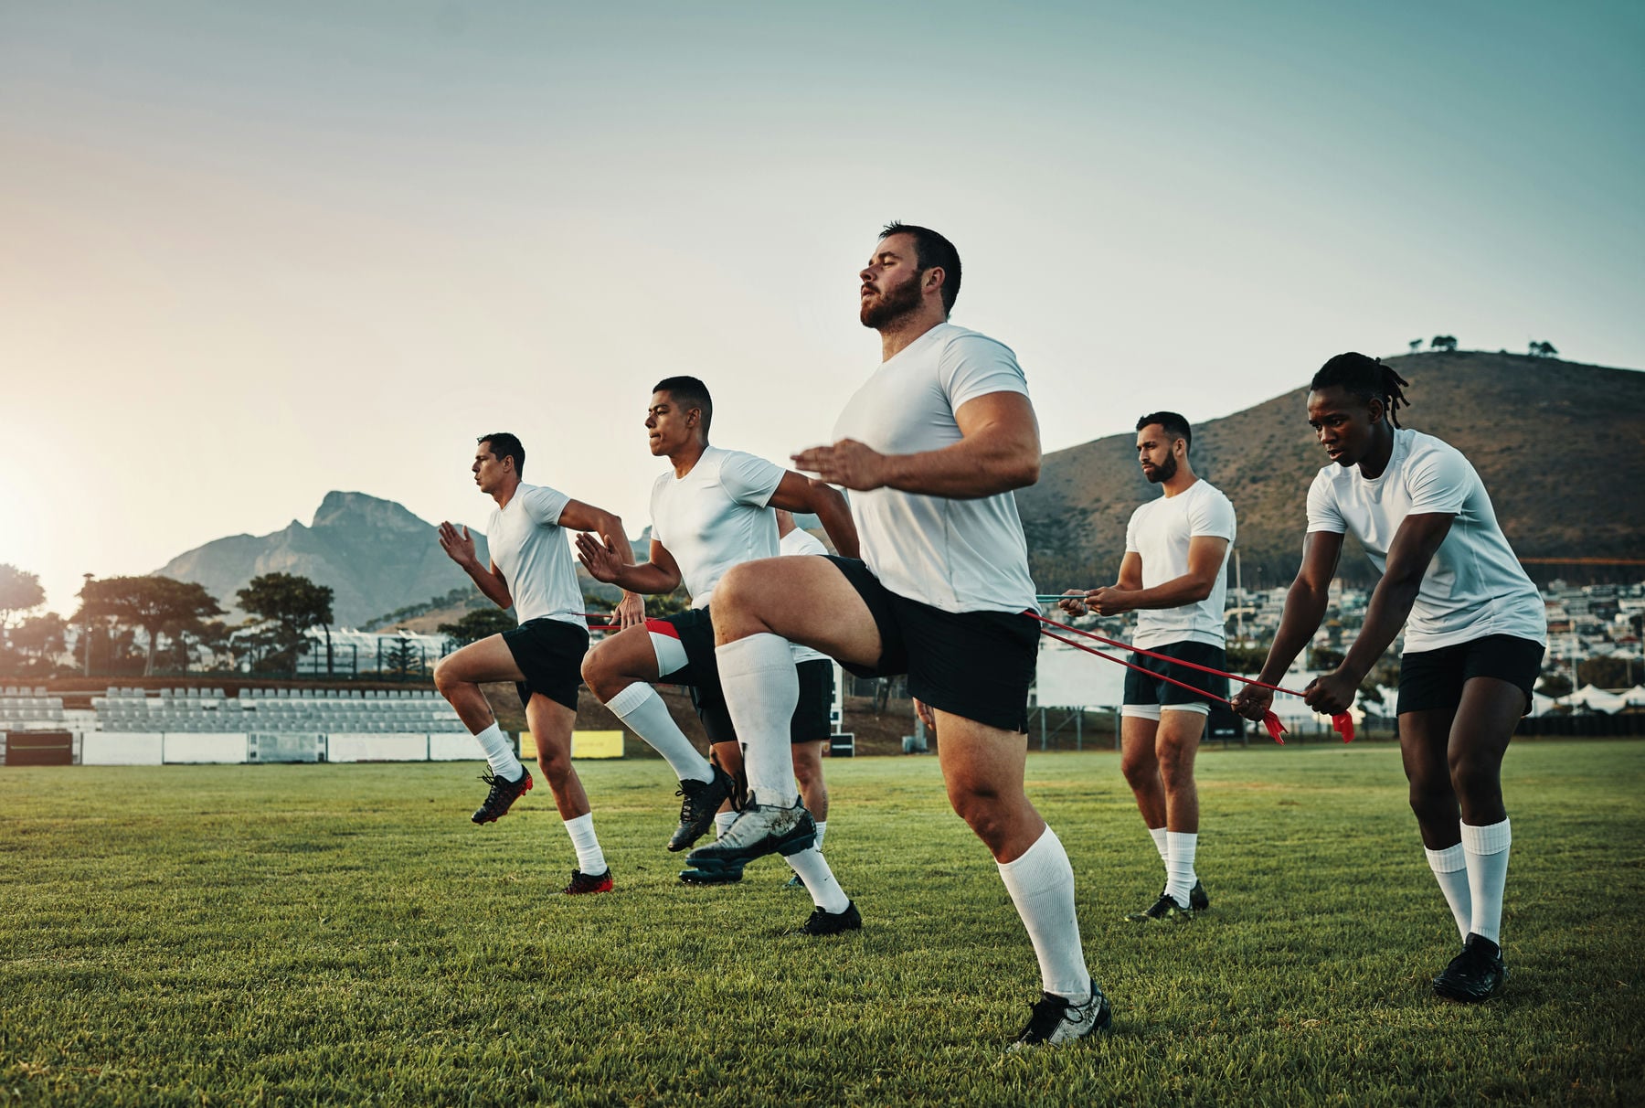
POLYGON ((1406 650, 1438 650, 1485 635, 1548 642, 1536 586, 1508 548, 1474 466, 1433 435, 1393 431, 1375 481, 1359 466, 1326 466, 1308 491, 1308 530, 1352 532, 1379 571, 1406 515, 1454 515, 1405 624, 1406 650))

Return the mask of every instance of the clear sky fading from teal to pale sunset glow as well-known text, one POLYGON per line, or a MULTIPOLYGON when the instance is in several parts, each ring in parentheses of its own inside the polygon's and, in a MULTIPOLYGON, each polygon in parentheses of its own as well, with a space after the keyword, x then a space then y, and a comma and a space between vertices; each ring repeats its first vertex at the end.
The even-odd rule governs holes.
POLYGON ((1434 334, 1645 367, 1642 58, 1637 3, 0 0, 0 563, 69 616, 331 489, 480 525, 500 430, 637 533, 661 377, 831 440, 892 219, 1048 451, 1434 334))

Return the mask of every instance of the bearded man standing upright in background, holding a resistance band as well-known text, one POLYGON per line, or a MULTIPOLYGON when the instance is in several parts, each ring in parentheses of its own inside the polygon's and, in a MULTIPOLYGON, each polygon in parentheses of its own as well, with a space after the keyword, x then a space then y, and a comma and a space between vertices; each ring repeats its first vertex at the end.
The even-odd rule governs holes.
MULTIPOLYGON (((1133 647, 1226 670, 1222 604, 1234 550, 1234 505, 1194 474, 1191 446, 1193 428, 1176 412, 1153 412, 1137 420, 1137 461, 1148 482, 1160 486, 1165 496, 1132 512, 1119 581, 1063 601, 1063 611, 1073 616, 1137 612, 1133 647)), ((1226 677, 1160 657, 1133 654, 1130 660, 1152 675, 1125 672, 1120 772, 1165 863, 1165 891, 1153 905, 1125 919, 1143 924, 1191 920, 1194 912, 1211 907, 1194 873, 1199 848, 1194 754, 1212 698, 1227 700, 1229 683, 1226 677), (1171 680, 1161 680, 1166 677, 1171 680)))

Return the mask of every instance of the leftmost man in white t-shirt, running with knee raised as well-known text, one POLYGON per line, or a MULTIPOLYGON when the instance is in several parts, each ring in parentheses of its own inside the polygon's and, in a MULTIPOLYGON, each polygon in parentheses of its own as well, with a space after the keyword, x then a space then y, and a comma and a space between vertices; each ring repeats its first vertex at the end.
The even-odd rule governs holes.
MULTIPOLYGON (((622 520, 604 509, 572 500, 548 486, 525 484, 525 446, 508 433, 482 435, 474 451, 474 484, 497 502, 487 524, 490 566, 482 566, 467 527, 439 525, 439 545, 498 608, 513 608, 520 626, 500 635, 447 654, 434 665, 434 687, 457 710, 462 723, 485 751, 490 769, 480 780, 490 785, 474 813, 475 823, 494 823, 531 789, 531 772, 515 757, 513 746, 480 690, 482 682, 515 682, 525 718, 536 741, 536 764, 554 794, 577 866, 568 896, 610 892, 612 874, 594 833, 594 813, 577 770, 571 766, 571 729, 577 721, 577 687, 589 626, 582 616, 582 588, 566 528, 599 532, 617 550, 633 550, 622 520)), ((645 604, 633 593, 617 606, 623 626, 645 622, 645 604)))

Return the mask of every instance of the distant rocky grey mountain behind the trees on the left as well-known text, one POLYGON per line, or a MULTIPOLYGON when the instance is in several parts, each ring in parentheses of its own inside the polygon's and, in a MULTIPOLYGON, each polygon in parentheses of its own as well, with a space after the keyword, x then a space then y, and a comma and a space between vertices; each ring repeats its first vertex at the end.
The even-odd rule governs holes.
MULTIPOLYGON (((485 561, 485 535, 470 533, 485 561)), ((456 588, 474 588, 436 535, 433 524, 393 500, 327 492, 308 527, 291 520, 271 535, 217 538, 178 555, 158 573, 204 584, 224 608, 234 606, 234 594, 253 576, 296 573, 331 586, 337 626, 347 627, 456 588)))

